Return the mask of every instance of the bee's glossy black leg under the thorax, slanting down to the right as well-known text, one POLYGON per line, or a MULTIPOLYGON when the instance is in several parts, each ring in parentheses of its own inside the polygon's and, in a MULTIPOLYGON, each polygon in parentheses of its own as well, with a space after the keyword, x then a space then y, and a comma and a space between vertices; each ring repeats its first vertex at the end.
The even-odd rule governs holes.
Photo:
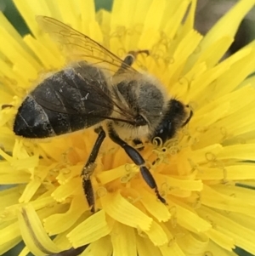
POLYGON ((166 200, 158 191, 155 179, 153 178, 152 174, 150 174, 149 169, 145 167, 144 158, 140 155, 139 151, 136 151, 131 145, 128 145, 127 142, 122 140, 111 126, 108 127, 108 134, 111 140, 117 145, 120 145, 122 149, 126 151, 127 155, 133 160, 133 162, 139 166, 145 182, 150 186, 151 189, 155 191, 156 197, 164 204, 167 204, 166 200))

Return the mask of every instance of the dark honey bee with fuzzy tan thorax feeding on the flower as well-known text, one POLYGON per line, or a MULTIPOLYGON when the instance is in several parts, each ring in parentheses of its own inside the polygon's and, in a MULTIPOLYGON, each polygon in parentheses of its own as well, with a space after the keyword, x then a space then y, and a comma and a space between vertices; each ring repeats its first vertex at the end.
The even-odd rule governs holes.
POLYGON ((140 139, 160 138, 164 143, 173 138, 192 117, 189 105, 168 95, 156 77, 133 69, 136 55, 149 54, 148 51, 130 52, 121 60, 59 20, 37 16, 37 22, 73 61, 45 78, 26 96, 14 119, 14 133, 43 139, 94 128, 98 138, 81 174, 93 213, 95 198, 90 178, 106 135, 126 151, 156 197, 167 203, 143 156, 127 141, 140 143, 140 139))

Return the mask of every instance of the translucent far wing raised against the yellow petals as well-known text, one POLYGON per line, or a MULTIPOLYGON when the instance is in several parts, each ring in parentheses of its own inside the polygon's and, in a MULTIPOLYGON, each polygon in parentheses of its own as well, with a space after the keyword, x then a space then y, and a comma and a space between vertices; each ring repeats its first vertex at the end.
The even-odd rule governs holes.
POLYGON ((126 65, 115 54, 112 54, 105 47, 65 25, 59 20, 47 16, 36 17, 42 30, 48 32, 50 37, 63 46, 68 59, 73 61, 86 60, 91 65, 99 65, 101 68, 111 72, 113 76, 120 70, 122 73, 137 73, 130 65, 126 65))

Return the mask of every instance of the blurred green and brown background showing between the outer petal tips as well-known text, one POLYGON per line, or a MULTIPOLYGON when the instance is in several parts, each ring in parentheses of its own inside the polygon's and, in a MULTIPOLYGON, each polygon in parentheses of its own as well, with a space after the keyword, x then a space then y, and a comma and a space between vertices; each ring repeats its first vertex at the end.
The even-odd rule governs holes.
MULTIPOLYGON (((20 0, 21 1, 21 0, 20 0)), ((85 0, 84 0, 85 1, 85 0)), ((112 0, 94 0, 96 9, 111 10, 112 0)), ((240 0, 241 1, 241 0, 240 0)), ((237 0, 197 0, 197 9, 195 17, 195 29, 205 35, 207 31, 213 26, 214 23, 224 15, 237 0)), ((2 11, 8 20, 16 27, 20 34, 26 35, 29 30, 26 23, 15 9, 12 0, 0 0, 0 11, 2 11)), ((245 46, 247 43, 255 39, 255 8, 246 15, 246 18, 241 22, 241 26, 235 37, 235 42, 229 48, 228 54, 234 54, 238 49, 245 46)), ((1 189, 1 185, 0 185, 1 189)), ((2 187, 3 189, 3 187, 2 187)), ((255 238, 254 238, 255 239, 255 238)), ((255 240, 254 240, 255 242, 255 240)), ((4 256, 16 256, 20 253, 23 244, 14 248, 12 251, 4 254, 4 256)), ((235 253, 240 256, 255 256, 246 253, 241 248, 236 248, 235 253)), ((221 255, 213 255, 221 256, 221 255)))

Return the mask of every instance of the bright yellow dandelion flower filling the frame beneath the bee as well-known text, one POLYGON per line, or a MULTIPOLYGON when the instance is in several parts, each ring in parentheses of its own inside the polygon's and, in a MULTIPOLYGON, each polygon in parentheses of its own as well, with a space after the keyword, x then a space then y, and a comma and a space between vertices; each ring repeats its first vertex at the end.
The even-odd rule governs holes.
POLYGON ((255 43, 222 56, 254 0, 241 0, 202 37, 194 30, 195 0, 14 0, 31 34, 20 37, 0 14, 0 254, 20 241, 20 256, 255 254, 255 43), (187 13, 188 10, 188 13, 187 13), (36 15, 54 17, 112 53, 139 54, 133 67, 157 77, 194 113, 164 145, 144 142, 163 204, 139 168, 105 139, 92 175, 96 213, 80 176, 97 134, 91 129, 47 140, 14 135, 22 100, 65 67, 62 49, 36 15), (252 114, 253 113, 253 114, 252 114), (84 250, 82 252, 82 250, 84 250))

